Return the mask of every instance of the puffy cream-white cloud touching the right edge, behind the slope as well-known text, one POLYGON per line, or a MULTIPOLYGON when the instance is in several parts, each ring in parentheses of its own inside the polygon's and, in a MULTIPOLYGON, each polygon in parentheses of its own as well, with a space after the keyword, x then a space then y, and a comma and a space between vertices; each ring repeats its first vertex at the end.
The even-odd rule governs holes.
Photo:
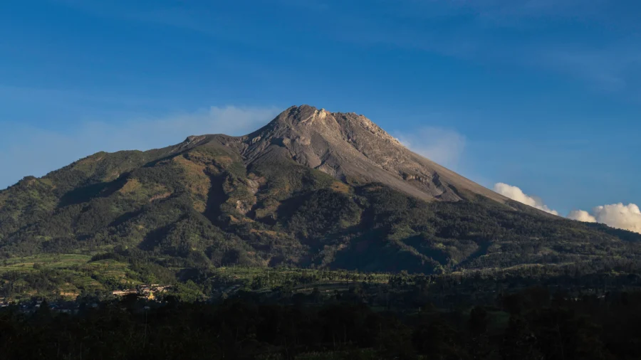
POLYGON ((597 206, 592 209, 592 213, 583 210, 572 211, 568 218, 589 223, 604 223, 613 228, 641 233, 641 210, 634 203, 597 206))

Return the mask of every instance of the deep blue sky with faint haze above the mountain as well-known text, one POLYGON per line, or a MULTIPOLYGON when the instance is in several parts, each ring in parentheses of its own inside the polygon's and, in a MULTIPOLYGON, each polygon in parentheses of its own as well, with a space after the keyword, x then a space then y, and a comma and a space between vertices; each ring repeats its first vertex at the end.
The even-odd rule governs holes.
POLYGON ((641 203, 640 1, 0 5, 0 188, 99 150, 358 112, 565 215, 641 203))

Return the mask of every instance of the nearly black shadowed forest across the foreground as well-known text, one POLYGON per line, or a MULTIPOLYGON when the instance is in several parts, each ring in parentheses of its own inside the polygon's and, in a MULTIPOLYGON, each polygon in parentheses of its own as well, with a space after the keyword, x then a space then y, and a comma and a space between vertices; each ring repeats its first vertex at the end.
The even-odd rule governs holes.
MULTIPOLYGON (((494 304, 368 305, 358 287, 287 300, 42 302, 0 311, 0 359, 640 359, 641 292, 529 287, 494 304)), ((454 290, 456 292, 457 290, 454 290)), ((270 300, 271 299, 271 300, 270 300)))

